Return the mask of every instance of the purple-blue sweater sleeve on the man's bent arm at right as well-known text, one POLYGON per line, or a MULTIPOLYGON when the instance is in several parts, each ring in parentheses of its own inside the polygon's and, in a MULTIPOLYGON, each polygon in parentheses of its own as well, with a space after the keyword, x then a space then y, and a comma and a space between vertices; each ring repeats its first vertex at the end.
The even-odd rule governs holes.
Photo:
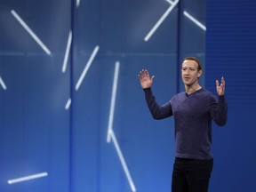
POLYGON ((211 116, 215 124, 224 126, 228 121, 228 104, 224 96, 219 96, 219 100, 211 101, 211 116))

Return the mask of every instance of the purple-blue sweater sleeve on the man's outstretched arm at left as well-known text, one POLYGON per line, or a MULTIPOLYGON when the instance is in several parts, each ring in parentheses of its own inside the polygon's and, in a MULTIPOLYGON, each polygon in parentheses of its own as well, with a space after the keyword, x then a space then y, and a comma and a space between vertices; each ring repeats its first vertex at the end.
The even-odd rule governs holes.
POLYGON ((145 92, 145 99, 148 104, 149 111, 154 119, 164 119, 172 116, 172 106, 170 102, 160 106, 156 102, 156 98, 153 95, 151 88, 143 89, 145 92))

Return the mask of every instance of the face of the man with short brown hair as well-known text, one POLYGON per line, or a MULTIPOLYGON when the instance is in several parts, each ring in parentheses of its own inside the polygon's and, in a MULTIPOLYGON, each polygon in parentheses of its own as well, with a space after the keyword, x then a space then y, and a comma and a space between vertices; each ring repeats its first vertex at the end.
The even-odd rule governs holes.
POLYGON ((201 76, 202 70, 198 71, 198 63, 195 60, 184 60, 181 68, 182 81, 185 85, 191 86, 197 84, 198 77, 201 76))

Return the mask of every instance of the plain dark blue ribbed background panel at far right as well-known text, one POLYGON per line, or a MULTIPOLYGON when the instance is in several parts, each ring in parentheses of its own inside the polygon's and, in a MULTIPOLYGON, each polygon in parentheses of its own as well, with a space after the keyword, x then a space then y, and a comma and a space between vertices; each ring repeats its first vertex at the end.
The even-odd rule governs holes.
POLYGON ((255 191, 255 1, 208 1, 205 84, 227 81, 228 124, 213 130, 211 191, 255 191))

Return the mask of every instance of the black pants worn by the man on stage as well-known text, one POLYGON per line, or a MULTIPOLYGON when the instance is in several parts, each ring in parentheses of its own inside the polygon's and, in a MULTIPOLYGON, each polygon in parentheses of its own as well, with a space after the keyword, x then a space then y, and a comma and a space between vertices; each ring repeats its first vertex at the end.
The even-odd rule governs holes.
POLYGON ((176 158, 172 171, 172 192, 207 192, 213 159, 176 158))

